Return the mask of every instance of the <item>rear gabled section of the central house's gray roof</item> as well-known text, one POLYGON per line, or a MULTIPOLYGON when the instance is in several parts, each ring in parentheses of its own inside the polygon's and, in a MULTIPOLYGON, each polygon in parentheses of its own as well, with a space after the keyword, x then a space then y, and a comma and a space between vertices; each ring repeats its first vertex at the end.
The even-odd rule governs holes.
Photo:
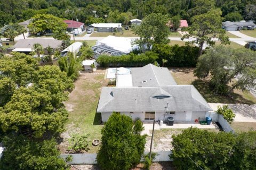
POLYGON ((158 87, 177 85, 166 67, 148 64, 131 69, 133 87, 158 87))

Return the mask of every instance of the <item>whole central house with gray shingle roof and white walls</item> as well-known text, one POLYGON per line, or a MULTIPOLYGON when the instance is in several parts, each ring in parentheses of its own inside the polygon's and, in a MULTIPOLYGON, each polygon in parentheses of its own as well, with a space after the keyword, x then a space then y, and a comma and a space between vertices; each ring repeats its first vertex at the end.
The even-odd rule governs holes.
POLYGON ((118 75, 130 87, 103 87, 97 112, 103 122, 115 111, 136 120, 205 120, 212 108, 193 85, 177 85, 169 70, 148 64, 131 69, 131 76, 118 75), (123 77, 122 77, 123 76, 123 77), (122 78, 121 78, 122 77, 122 78), (126 78, 127 79, 126 79, 126 78), (131 77, 131 78, 130 78, 131 77), (132 86, 131 86, 132 84, 132 86))

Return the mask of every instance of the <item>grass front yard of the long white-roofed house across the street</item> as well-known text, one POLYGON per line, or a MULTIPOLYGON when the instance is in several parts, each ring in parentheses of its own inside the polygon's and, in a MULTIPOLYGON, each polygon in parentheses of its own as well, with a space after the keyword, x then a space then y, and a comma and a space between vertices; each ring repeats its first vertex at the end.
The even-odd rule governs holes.
POLYGON ((117 36, 117 37, 139 37, 135 35, 131 28, 129 30, 124 30, 124 33, 121 32, 93 32, 90 37, 108 37, 108 36, 117 36))

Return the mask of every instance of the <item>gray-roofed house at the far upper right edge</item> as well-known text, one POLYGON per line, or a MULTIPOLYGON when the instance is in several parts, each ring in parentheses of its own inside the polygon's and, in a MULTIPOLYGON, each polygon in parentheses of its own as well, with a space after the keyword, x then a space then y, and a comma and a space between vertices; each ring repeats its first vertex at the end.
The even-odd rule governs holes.
POLYGON ((231 22, 226 21, 222 22, 222 28, 226 31, 239 31, 242 29, 251 30, 255 28, 255 24, 253 22, 231 22))

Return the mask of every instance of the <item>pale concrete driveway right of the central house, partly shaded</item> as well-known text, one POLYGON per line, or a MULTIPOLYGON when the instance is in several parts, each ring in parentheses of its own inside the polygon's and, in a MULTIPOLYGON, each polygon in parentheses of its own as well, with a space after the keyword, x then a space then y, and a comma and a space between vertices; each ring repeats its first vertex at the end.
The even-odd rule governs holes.
POLYGON ((234 122, 256 122, 256 104, 223 104, 209 103, 213 111, 217 111, 218 106, 228 105, 228 107, 236 114, 234 122))

